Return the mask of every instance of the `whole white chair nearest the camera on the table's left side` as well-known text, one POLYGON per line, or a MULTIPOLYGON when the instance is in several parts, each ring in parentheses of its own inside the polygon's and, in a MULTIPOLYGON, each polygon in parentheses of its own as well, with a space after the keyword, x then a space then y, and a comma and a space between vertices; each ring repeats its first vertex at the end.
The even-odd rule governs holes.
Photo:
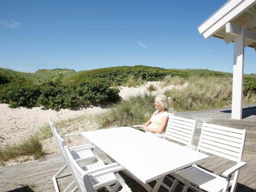
MULTIPOLYGON (((111 192, 117 191, 122 186, 122 192, 132 191, 124 182, 123 178, 117 173, 123 167, 118 163, 100 165, 98 163, 81 168, 73 159, 68 146, 64 146, 69 168, 75 179, 77 188, 81 192, 94 192, 98 188, 106 186, 111 192), (110 185, 115 184, 113 187, 110 185)), ((100 163, 100 162, 99 162, 100 163)), ((74 188, 76 190, 76 187, 74 188)))

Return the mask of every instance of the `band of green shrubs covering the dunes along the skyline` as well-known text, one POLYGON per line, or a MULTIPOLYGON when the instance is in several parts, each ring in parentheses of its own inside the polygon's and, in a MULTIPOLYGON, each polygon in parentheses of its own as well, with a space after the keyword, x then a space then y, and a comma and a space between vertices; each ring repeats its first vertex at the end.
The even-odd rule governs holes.
MULTIPOLYGON (((164 80, 183 84, 191 77, 225 77, 232 74, 210 70, 174 70, 156 67, 113 67, 75 72, 68 69, 22 73, 0 68, 0 102, 11 108, 44 106, 54 110, 76 109, 91 104, 117 102, 117 86, 134 87, 145 81, 164 80), (170 81, 171 80, 171 81, 170 81)), ((256 77, 245 75, 244 92, 256 92, 256 77)))

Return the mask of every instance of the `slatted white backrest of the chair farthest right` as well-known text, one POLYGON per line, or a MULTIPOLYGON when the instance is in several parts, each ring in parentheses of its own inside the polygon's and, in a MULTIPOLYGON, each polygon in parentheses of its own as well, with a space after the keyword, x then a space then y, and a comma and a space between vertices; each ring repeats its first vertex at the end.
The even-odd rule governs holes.
POLYGON ((240 162, 243 156, 246 130, 203 123, 198 151, 240 162))

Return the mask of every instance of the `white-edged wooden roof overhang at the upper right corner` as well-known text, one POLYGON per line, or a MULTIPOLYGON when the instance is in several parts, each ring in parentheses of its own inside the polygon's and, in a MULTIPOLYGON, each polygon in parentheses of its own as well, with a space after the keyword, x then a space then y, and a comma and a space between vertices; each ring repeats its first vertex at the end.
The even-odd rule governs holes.
POLYGON ((256 0, 229 0, 202 23, 198 30, 204 38, 215 36, 226 44, 245 29, 245 47, 256 50, 256 0))

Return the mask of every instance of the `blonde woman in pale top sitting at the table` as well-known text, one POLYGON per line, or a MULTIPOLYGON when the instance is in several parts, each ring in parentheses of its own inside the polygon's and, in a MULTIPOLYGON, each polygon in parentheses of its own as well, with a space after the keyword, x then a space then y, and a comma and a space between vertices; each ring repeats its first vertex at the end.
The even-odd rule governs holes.
POLYGON ((163 94, 158 95, 155 99, 155 107, 157 111, 155 111, 150 120, 145 123, 142 130, 151 133, 162 133, 169 119, 169 105, 170 98, 167 98, 163 94))

